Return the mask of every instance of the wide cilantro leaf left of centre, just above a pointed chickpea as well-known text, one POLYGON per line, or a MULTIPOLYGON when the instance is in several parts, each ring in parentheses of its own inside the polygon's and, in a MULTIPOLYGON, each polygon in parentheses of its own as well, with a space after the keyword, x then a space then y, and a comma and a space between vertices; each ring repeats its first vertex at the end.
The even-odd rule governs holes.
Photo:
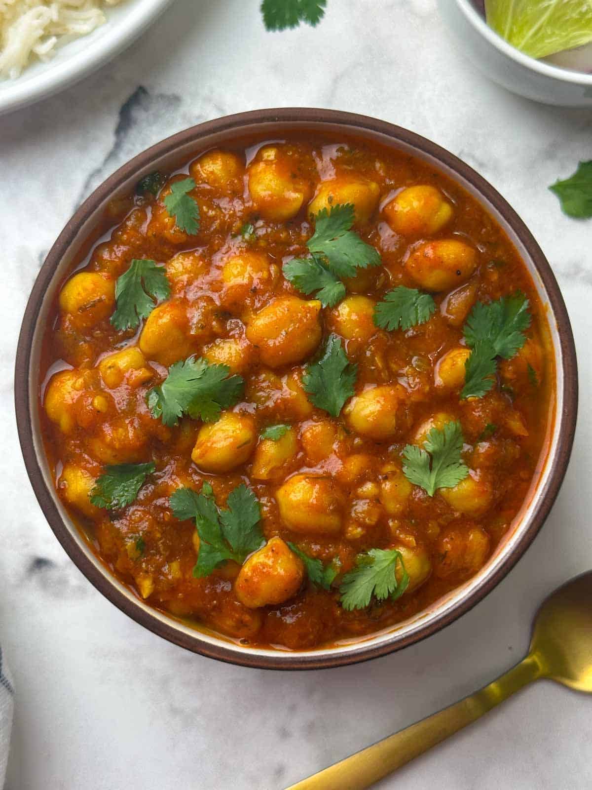
POLYGON ((165 425, 176 425, 183 414, 215 422, 223 408, 234 406, 242 397, 244 379, 229 373, 227 365, 193 356, 175 362, 163 383, 148 391, 146 402, 152 416, 160 417, 165 425))

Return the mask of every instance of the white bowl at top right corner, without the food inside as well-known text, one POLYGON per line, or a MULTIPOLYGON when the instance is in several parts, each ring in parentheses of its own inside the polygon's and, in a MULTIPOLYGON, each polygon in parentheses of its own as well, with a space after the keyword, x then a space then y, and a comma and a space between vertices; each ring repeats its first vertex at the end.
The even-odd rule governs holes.
POLYGON ((486 77, 545 104, 592 107, 592 74, 524 55, 497 35, 470 0, 439 0, 440 13, 466 55, 486 77))

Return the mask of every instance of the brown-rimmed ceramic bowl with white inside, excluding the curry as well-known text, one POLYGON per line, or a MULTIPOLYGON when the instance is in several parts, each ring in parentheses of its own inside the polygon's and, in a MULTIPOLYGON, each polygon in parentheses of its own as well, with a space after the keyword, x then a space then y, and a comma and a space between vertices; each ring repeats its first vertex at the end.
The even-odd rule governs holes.
POLYGON ((571 326, 555 277, 538 244, 519 216, 478 173, 433 142, 392 124, 332 110, 260 110, 193 126, 136 156, 93 192, 51 248, 25 310, 17 350, 15 378, 17 425, 25 465, 39 504, 58 540, 73 562, 103 595, 143 626, 178 645, 206 656, 257 668, 306 669, 352 664, 435 633, 463 615, 508 573, 541 528, 556 497, 571 452, 577 412, 577 368, 571 326), (238 137, 281 138, 288 131, 353 135, 408 152, 455 179, 504 228, 530 270, 549 318, 556 366, 556 398, 549 420, 549 452, 514 524, 485 567, 430 608, 369 637, 330 648, 289 651, 253 648, 199 630, 156 611, 116 579, 93 553, 54 490, 43 450, 39 420, 39 357, 48 314, 60 284, 73 264, 88 250, 88 239, 99 228, 107 203, 133 191, 138 180, 154 170, 175 167, 212 147, 231 145, 238 137))

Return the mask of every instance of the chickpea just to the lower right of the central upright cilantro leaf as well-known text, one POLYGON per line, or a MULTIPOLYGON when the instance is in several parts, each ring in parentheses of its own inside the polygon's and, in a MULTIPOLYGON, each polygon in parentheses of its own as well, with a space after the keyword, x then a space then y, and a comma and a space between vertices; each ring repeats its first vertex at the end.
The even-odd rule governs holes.
POLYGON ((397 410, 403 398, 399 385, 364 389, 343 409, 348 425, 358 434, 377 442, 391 438, 397 429, 397 410))

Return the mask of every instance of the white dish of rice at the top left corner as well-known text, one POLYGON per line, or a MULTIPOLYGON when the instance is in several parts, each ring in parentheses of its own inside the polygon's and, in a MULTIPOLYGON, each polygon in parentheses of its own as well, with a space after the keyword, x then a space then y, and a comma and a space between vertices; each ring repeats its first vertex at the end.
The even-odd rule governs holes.
POLYGON ((0 115, 51 96, 127 47, 172 0, 0 0, 0 115))

